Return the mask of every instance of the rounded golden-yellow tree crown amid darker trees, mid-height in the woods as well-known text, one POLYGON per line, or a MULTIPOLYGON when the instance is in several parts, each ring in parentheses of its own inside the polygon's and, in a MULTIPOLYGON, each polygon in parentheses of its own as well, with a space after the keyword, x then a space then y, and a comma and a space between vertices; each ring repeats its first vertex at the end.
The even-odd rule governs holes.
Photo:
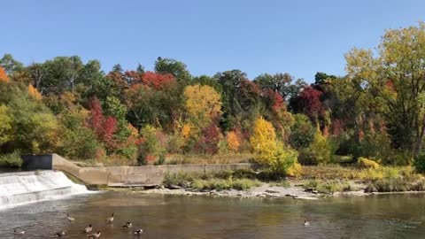
POLYGON ((197 127, 206 127, 221 113, 220 94, 212 87, 194 85, 184 89, 186 111, 197 127))

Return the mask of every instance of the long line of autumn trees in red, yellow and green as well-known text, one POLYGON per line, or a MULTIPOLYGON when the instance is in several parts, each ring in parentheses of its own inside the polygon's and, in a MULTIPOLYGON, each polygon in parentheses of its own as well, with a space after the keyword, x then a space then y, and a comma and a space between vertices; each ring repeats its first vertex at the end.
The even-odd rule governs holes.
POLYGON ((412 163, 425 135, 425 24, 386 30, 374 50, 344 56, 344 76, 318 72, 307 84, 290 73, 194 76, 172 58, 104 73, 78 56, 25 66, 5 54, 0 152, 124 165, 254 152, 275 170, 360 157, 412 163))

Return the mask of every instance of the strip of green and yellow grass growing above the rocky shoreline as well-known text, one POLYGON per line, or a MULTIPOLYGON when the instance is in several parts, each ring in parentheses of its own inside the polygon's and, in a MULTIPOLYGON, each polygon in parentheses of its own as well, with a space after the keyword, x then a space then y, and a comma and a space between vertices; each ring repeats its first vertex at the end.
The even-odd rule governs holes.
POLYGON ((288 188, 291 184, 306 191, 321 194, 364 190, 365 192, 424 191, 425 178, 411 166, 380 166, 359 168, 355 166, 303 166, 296 178, 275 181, 267 173, 251 170, 220 173, 167 173, 164 185, 195 190, 248 190, 268 183, 271 187, 288 188))

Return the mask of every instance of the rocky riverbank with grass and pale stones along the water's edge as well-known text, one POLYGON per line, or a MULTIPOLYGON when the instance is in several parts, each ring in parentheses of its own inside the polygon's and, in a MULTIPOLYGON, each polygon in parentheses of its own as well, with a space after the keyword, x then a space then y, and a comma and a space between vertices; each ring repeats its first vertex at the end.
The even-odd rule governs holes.
POLYGON ((304 166, 303 173, 293 178, 276 179, 273 175, 251 170, 201 174, 179 172, 167 173, 163 184, 155 189, 112 190, 163 195, 292 197, 314 200, 322 197, 424 192, 425 178, 409 166, 366 169, 304 166))

